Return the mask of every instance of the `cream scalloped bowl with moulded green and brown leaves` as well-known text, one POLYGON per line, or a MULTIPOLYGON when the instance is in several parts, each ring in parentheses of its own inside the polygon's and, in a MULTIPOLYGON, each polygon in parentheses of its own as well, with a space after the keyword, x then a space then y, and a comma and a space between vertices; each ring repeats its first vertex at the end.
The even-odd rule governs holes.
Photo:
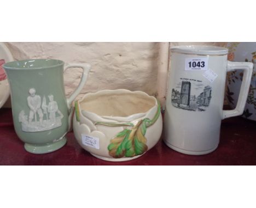
POLYGON ((142 91, 89 93, 75 102, 73 131, 78 143, 97 158, 133 160, 160 139, 160 104, 142 91))

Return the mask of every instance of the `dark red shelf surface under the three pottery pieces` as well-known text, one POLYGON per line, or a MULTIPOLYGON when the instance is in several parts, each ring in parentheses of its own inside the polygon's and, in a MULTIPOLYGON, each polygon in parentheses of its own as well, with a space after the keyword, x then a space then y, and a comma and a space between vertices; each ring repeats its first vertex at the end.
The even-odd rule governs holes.
POLYGON ((82 149, 73 132, 63 148, 43 155, 26 152, 14 131, 11 109, 0 109, 1 165, 255 165, 256 122, 235 117, 222 123, 216 151, 203 156, 184 155, 168 148, 162 140, 143 156, 127 162, 107 162, 82 149))

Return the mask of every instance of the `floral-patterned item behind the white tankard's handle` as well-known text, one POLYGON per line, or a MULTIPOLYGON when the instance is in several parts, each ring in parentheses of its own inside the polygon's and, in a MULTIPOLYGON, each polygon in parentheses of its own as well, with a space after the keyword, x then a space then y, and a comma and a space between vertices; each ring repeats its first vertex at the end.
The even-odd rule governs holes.
MULTIPOLYGON (((229 42, 228 60, 232 62, 253 62, 253 75, 245 110, 242 117, 256 121, 256 42, 229 42)), ((239 90, 242 83, 243 71, 228 72, 226 76, 226 100, 234 108, 236 106, 239 90)))

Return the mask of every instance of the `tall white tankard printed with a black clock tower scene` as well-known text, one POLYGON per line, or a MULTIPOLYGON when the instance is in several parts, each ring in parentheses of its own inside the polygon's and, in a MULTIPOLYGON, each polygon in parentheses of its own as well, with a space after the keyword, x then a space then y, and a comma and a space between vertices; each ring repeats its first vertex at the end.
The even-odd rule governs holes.
POLYGON ((164 142, 184 154, 208 154, 219 144, 221 120, 243 113, 253 64, 229 62, 224 47, 176 46, 171 52, 164 142), (223 111, 226 72, 236 69, 243 70, 237 106, 223 111))

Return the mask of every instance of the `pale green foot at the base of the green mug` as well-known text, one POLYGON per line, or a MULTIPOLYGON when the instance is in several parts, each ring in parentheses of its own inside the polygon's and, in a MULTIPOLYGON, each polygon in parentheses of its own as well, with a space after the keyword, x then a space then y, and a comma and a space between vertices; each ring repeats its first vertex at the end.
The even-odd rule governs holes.
POLYGON ((55 150, 62 148, 62 146, 64 146, 66 142, 67 142, 66 137, 63 137, 57 142, 46 144, 46 145, 33 145, 33 144, 25 143, 24 148, 25 150, 33 154, 45 154, 45 153, 53 152, 55 150))

